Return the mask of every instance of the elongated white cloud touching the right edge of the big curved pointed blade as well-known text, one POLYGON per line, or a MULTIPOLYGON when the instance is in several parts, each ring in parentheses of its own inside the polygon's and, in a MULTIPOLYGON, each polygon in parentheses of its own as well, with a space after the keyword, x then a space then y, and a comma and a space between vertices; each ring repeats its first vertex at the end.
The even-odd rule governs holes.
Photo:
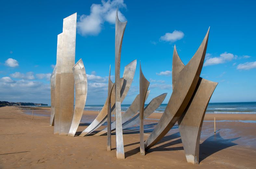
POLYGON ((232 61, 233 59, 236 59, 236 58, 237 58, 237 55, 224 52, 219 57, 213 57, 213 58, 206 59, 206 61, 204 62, 204 66, 221 64, 221 63, 232 61))

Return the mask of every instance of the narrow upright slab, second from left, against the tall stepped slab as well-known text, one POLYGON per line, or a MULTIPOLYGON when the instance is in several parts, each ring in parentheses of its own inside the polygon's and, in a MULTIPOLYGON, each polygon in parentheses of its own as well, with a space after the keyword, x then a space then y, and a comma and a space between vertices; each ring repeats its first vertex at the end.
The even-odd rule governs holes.
POLYGON ((62 58, 62 35, 58 35, 57 40, 57 58, 56 58, 56 81, 55 81, 55 111, 54 111, 54 134, 59 134, 59 111, 60 111, 60 73, 62 58))

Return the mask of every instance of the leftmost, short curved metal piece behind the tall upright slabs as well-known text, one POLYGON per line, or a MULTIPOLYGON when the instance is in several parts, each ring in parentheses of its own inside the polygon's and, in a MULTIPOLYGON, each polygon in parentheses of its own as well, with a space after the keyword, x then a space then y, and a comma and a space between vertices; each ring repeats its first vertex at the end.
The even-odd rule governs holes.
POLYGON ((56 67, 54 67, 54 70, 51 74, 51 117, 50 117, 50 126, 54 126, 55 85, 56 85, 56 67))

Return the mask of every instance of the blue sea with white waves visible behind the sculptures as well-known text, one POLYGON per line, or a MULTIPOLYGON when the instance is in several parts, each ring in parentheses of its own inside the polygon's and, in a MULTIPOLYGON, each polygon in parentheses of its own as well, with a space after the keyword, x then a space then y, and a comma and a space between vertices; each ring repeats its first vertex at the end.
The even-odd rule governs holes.
MULTIPOLYGON (((156 113, 163 113, 167 104, 161 104, 156 113)), ((147 106, 147 104, 145 104, 147 106)), ((85 105, 84 110, 100 111, 103 105, 85 105)), ((121 110, 126 111, 130 105, 121 105, 121 110)), ((231 103, 209 103, 207 114, 256 114, 256 102, 231 102, 231 103)))

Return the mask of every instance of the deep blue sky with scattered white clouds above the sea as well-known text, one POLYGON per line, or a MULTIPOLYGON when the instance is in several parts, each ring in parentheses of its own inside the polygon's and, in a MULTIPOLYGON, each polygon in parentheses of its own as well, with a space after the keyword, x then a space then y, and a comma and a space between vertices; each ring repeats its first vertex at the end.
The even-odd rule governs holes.
MULTIPOLYGON (((3 1, 0 6, 0 100, 50 104, 49 76, 56 64, 63 18, 77 12, 76 62, 88 77, 86 104, 104 104, 109 64, 114 75, 113 11, 128 20, 121 74, 137 59, 134 82, 123 104, 139 93, 139 61, 150 81, 146 103, 172 93, 176 45, 187 64, 209 26, 201 77, 218 82, 210 102, 256 101, 254 1, 3 1), (94 5, 93 5, 94 4, 94 5)), ((114 78, 113 78, 114 79, 114 78)))

